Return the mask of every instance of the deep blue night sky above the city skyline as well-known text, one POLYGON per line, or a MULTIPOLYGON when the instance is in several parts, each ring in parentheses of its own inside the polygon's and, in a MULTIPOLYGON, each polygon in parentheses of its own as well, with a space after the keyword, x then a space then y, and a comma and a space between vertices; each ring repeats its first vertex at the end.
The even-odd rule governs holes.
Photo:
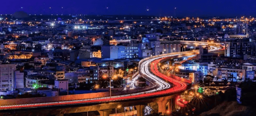
POLYGON ((174 16, 175 7, 176 16, 256 16, 256 0, 1 0, 0 14, 174 16))

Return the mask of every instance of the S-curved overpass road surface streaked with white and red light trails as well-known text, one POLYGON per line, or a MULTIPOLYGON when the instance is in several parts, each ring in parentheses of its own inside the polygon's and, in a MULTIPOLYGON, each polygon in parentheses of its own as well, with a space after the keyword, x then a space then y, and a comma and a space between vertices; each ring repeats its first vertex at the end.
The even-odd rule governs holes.
POLYGON ((177 94, 182 91, 185 91, 185 89, 187 88, 187 85, 184 82, 177 80, 179 77, 176 77, 176 79, 174 79, 160 73, 157 70, 157 62, 159 62, 162 58, 185 57, 185 56, 195 55, 198 53, 199 53, 198 50, 185 51, 185 52, 176 52, 176 53, 170 53, 170 54, 162 54, 162 55, 142 59, 139 62, 139 74, 137 73, 137 75, 146 76, 148 79, 158 84, 159 85, 158 88, 154 90, 148 90, 146 92, 138 92, 134 94, 117 95, 112 97, 92 96, 87 99, 85 98, 83 99, 69 98, 68 99, 65 96, 61 96, 60 99, 57 99, 57 100, 56 99, 49 100, 47 97, 0 100, 0 110, 16 109, 16 108, 36 108, 36 107, 47 107, 47 106, 56 106, 56 105, 74 105, 74 104, 85 104, 85 103, 104 103, 104 102, 112 102, 112 101, 120 102, 122 100, 161 96, 165 94, 177 94))

